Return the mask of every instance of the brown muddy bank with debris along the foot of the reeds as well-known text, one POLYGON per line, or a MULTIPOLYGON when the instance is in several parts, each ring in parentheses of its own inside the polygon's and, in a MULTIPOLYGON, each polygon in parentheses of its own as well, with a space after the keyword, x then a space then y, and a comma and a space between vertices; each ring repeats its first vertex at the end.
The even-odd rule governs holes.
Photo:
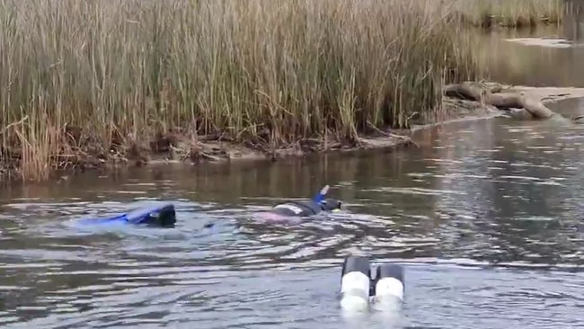
MULTIPOLYGON (((486 84, 489 88, 497 89, 499 93, 524 95, 534 102, 542 104, 557 102, 569 98, 584 97, 584 88, 571 87, 529 87, 510 86, 501 84, 486 84)), ((447 87, 448 88, 448 87, 447 87)), ((511 109, 513 110, 513 109, 511 109)), ((520 113, 519 109, 517 112, 520 113)), ((325 152, 350 152, 359 149, 398 147, 416 147, 411 140, 411 133, 420 129, 427 129, 436 125, 447 124, 459 120, 480 120, 505 115, 509 111, 490 104, 475 100, 453 97, 445 93, 442 109, 436 111, 431 118, 422 118, 419 115, 411 117, 410 129, 375 129, 371 128, 359 135, 357 140, 347 141, 335 138, 333 135, 315 138, 299 139, 295 143, 274 147, 269 142, 260 138, 250 140, 234 140, 221 134, 214 136, 192 136, 181 133, 180 130, 159 134, 152 141, 133 143, 113 143, 108 152, 102 147, 92 145, 91 140, 86 140, 87 145, 72 147, 71 140, 78 143, 81 132, 75 129, 66 131, 63 141, 67 144, 63 147, 66 154, 57 156, 54 167, 56 176, 64 172, 75 173, 94 169, 113 169, 119 166, 160 165, 169 163, 199 164, 200 162, 225 163, 230 161, 277 161, 291 156, 305 156, 312 153, 325 152), (73 135, 79 135, 73 137, 73 135), (66 141, 69 142, 66 142, 66 141), (92 151, 93 150, 93 151, 92 151)), ((554 113, 557 114, 557 113, 554 113)), ((559 114, 557 114, 559 115, 559 114)), ((526 115, 514 115, 515 119, 534 119, 526 115)), ((13 158, 2 159, 3 178, 18 178, 19 176, 19 152, 10 152, 13 158), (14 156, 16 155, 16 156, 14 156)))

